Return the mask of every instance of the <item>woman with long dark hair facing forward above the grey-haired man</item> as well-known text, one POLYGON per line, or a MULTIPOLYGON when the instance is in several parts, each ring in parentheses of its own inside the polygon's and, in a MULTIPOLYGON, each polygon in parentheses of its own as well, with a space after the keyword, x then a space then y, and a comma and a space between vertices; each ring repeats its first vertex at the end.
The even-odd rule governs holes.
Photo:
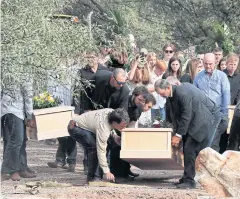
POLYGON ((162 79, 166 79, 168 76, 174 76, 177 79, 181 79, 182 76, 182 63, 177 57, 172 57, 168 63, 168 69, 163 74, 162 79))

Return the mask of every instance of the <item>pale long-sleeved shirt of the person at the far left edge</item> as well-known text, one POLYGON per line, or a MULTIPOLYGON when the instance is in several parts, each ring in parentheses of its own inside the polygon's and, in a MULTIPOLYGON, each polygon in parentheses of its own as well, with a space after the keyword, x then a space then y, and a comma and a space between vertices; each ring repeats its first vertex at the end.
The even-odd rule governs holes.
POLYGON ((32 119, 32 83, 31 78, 28 78, 24 84, 11 85, 2 90, 1 117, 11 113, 22 120, 32 119))

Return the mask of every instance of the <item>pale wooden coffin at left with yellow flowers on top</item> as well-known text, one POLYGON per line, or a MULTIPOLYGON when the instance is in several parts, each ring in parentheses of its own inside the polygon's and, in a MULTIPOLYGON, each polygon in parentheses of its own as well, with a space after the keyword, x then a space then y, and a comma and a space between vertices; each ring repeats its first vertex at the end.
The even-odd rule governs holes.
POLYGON ((36 109, 33 112, 36 128, 27 129, 27 134, 30 138, 46 140, 69 136, 67 126, 74 115, 74 107, 59 106, 36 109))

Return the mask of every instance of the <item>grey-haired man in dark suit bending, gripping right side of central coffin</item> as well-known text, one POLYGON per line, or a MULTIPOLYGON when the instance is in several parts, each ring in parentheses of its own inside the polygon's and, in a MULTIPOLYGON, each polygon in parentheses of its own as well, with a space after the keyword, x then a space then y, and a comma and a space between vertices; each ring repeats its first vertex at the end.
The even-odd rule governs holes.
POLYGON ((219 110, 198 88, 189 83, 172 86, 167 80, 158 80, 155 90, 168 97, 176 124, 172 146, 178 147, 183 140, 184 174, 178 188, 195 188, 195 160, 198 153, 209 146, 219 110))

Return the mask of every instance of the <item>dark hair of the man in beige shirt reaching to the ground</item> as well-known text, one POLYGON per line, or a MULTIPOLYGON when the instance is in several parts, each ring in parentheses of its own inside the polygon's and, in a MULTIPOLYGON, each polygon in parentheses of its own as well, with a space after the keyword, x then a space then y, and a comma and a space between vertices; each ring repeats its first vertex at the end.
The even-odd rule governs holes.
POLYGON ((123 108, 117 108, 108 115, 108 122, 112 124, 113 122, 116 122, 120 124, 122 121, 129 124, 130 118, 128 115, 128 112, 123 108))

